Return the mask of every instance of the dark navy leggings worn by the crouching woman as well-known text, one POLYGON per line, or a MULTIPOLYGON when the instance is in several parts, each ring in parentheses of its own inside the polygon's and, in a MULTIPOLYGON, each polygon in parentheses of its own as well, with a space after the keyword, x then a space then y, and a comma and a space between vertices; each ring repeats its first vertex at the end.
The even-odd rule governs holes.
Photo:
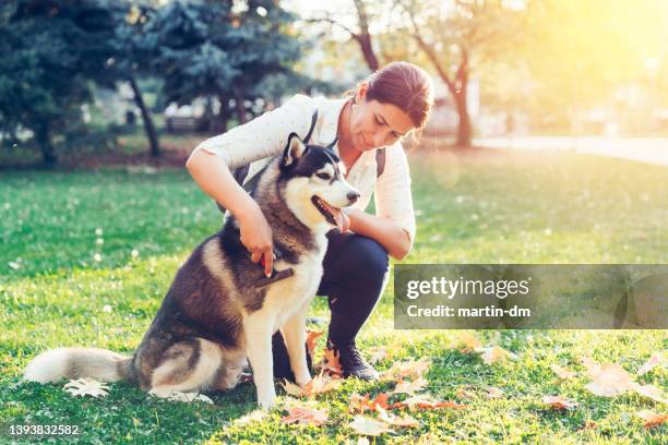
MULTIPOLYGON (((334 345, 355 341, 383 290, 389 258, 385 249, 371 238, 356 233, 327 233, 327 252, 319 296, 326 296, 332 317, 329 338, 334 345)), ((291 374, 281 330, 274 334, 274 374, 291 374)), ((310 359, 310 358, 309 358, 310 359)))

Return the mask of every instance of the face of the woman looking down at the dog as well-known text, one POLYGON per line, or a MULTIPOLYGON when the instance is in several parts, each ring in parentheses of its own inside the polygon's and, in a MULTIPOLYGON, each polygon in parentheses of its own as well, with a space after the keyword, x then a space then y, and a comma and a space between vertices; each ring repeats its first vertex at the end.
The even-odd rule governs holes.
POLYGON ((415 128, 399 107, 367 100, 367 85, 361 84, 350 110, 350 136, 355 148, 368 152, 394 144, 415 128))

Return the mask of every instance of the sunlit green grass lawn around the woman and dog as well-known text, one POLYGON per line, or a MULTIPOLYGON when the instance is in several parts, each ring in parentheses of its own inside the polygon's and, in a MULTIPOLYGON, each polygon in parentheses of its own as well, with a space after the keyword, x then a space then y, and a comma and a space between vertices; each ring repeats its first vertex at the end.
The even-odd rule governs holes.
MULTIPOLYGON (((300 428, 282 424, 279 410, 261 422, 237 424, 254 409, 250 383, 214 396, 216 405, 208 406, 157 400, 124 383, 111 384, 106 398, 84 399, 71 397, 62 385, 22 382, 27 361, 47 348, 132 351, 176 268, 219 227, 220 216, 183 171, 0 175, 0 423, 79 424, 82 443, 355 443, 346 426, 350 395, 378 394, 386 384, 346 381, 318 398, 330 410, 330 422, 300 428)), ((668 168, 573 154, 492 152, 415 158, 413 177, 418 238, 407 262, 668 263, 668 168)), ((392 329, 392 292, 390 281, 360 335, 366 351, 381 346, 392 351, 379 369, 428 357, 433 363, 428 392, 434 397, 457 399, 465 385, 482 393, 496 386, 504 394, 462 399, 463 410, 415 413, 421 428, 378 443, 668 440, 665 425, 646 430, 634 414, 665 406, 634 394, 597 397, 584 388, 586 378, 560 383, 550 370, 559 363, 582 374, 580 358, 592 356, 633 374, 652 352, 668 348, 664 330, 479 332, 486 342, 518 356, 487 365, 452 347, 457 332, 392 329), (577 400, 578 408, 546 409, 540 399, 554 394, 577 400), (598 428, 583 430, 587 421, 598 428)), ((317 299, 312 312, 326 315, 324 299, 317 299)), ((639 380, 665 389, 667 376, 655 369, 639 380)), ((60 440, 65 441, 71 442, 60 440)))

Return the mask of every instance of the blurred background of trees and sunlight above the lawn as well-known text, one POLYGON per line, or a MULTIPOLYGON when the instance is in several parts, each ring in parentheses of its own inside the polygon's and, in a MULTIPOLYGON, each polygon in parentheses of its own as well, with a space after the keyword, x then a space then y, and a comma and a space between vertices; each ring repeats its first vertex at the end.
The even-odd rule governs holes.
POLYGON ((422 145, 668 164, 667 25, 661 0, 4 0, 0 166, 182 165, 394 60, 433 77, 422 145))

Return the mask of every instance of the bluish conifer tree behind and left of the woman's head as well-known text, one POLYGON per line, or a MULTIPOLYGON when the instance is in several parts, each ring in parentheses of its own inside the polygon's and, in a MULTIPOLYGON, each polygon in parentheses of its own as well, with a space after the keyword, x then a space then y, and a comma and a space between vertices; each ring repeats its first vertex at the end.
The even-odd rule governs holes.
POLYGON ((232 111, 246 122, 252 111, 247 103, 265 97, 254 86, 291 73, 299 57, 289 32, 294 19, 272 0, 175 1, 156 10, 145 38, 157 48, 153 67, 163 74, 168 100, 215 97, 223 131, 232 111))

